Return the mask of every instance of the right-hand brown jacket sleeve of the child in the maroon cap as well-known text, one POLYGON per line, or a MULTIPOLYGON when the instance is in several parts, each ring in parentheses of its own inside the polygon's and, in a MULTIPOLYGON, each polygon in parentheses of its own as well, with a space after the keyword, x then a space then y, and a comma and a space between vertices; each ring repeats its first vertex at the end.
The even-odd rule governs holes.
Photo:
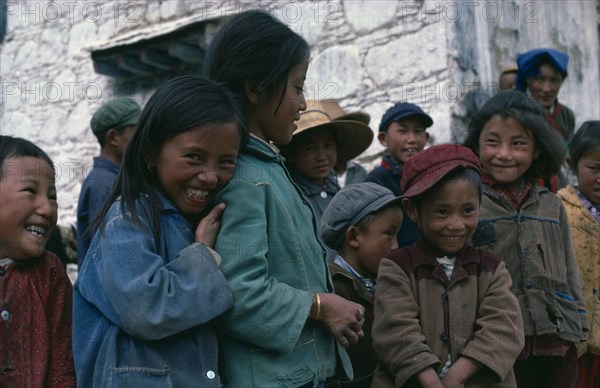
POLYGON ((512 280, 501 261, 487 289, 480 289, 475 327, 461 355, 481 362, 504 380, 525 344, 523 318, 516 296, 510 287, 512 280), (494 349, 494 351, 490 351, 494 349))

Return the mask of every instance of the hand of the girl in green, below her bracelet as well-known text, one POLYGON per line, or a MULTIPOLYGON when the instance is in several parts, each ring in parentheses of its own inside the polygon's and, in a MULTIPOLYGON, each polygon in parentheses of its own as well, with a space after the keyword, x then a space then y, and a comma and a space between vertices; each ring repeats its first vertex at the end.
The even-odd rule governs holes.
POLYGON ((343 347, 356 344, 364 336, 365 308, 336 294, 319 294, 320 321, 343 347))

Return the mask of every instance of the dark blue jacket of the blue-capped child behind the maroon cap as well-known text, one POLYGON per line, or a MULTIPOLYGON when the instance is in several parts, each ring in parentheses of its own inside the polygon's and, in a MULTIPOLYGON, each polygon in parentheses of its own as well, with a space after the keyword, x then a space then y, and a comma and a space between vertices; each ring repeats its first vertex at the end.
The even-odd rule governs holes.
MULTIPOLYGON (((402 195, 402 190, 400 190, 401 178, 402 166, 394 162, 390 155, 385 155, 381 159, 381 165, 375 167, 367 175, 365 182, 373 182, 387 187, 395 196, 399 197, 402 195)), ((414 244, 421 235, 419 227, 408 217, 404 209, 402 209, 402 215, 402 226, 396 236, 400 248, 414 244)))

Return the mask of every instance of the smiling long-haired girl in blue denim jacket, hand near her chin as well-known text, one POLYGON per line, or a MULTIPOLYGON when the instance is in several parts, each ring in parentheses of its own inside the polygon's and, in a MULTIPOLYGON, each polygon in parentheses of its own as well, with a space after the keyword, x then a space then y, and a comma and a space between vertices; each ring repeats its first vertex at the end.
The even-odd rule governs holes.
POLYGON ((148 101, 75 283, 82 387, 221 386, 207 323, 233 299, 211 249, 225 206, 212 204, 247 137, 242 118, 235 95, 197 76, 148 101))

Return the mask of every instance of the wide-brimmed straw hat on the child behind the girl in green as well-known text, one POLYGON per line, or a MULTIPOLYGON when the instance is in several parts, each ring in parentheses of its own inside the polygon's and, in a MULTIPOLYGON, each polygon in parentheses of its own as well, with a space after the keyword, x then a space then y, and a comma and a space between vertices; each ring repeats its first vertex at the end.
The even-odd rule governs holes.
POLYGON ((333 100, 306 101, 306 110, 300 112, 298 128, 292 135, 292 141, 282 148, 285 153, 297 141, 298 137, 317 129, 333 129, 335 132, 337 154, 340 160, 350 160, 363 153, 373 141, 373 131, 366 124, 369 115, 362 112, 345 113, 333 100), (335 118, 332 120, 332 118, 335 118))

